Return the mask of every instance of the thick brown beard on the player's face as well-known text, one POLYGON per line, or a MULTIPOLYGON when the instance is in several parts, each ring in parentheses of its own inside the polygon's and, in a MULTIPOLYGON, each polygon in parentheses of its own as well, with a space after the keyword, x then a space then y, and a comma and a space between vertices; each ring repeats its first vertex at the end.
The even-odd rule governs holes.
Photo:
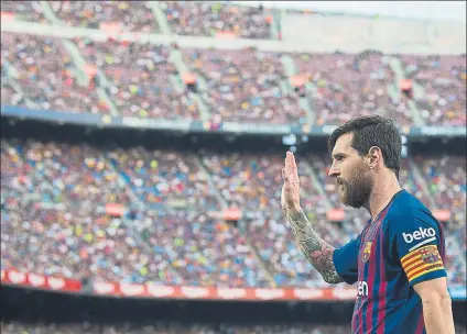
POLYGON ((339 186, 339 188, 344 187, 344 193, 340 193, 340 200, 344 205, 359 209, 368 203, 373 185, 371 180, 365 178, 363 169, 361 167, 356 167, 352 175, 354 177, 349 181, 339 177, 337 178, 339 185, 343 185, 339 186))

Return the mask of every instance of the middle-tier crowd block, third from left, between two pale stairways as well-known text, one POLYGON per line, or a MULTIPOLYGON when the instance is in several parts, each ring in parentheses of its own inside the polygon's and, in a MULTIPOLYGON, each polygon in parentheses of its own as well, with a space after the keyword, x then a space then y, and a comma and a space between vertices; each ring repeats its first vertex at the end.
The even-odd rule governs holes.
POLYGON ((182 49, 185 63, 206 79, 203 98, 219 121, 304 123, 306 112, 289 85, 280 53, 182 49))

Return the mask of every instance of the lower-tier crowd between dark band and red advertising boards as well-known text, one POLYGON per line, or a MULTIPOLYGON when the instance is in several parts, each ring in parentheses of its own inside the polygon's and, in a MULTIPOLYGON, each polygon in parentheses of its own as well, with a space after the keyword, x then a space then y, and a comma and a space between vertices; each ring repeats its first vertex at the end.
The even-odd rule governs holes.
MULTIPOLYGON (((449 281, 465 283, 465 265, 456 257, 465 245, 465 162, 423 162, 436 203, 454 209, 447 224, 449 281)), ((3 140, 2 268, 123 282, 327 287, 283 222, 281 163, 270 155, 205 154, 198 160, 194 154, 142 147, 3 140), (108 211, 112 203, 126 209, 121 216, 108 211), (246 212, 245 231, 213 214, 222 205, 246 212)), ((359 233, 366 213, 346 210, 344 224, 329 223, 328 207, 343 207, 325 178, 327 160, 315 155, 300 164, 305 210, 324 238, 343 245, 359 233), (326 198, 312 185, 308 168, 326 198)), ((402 179, 402 185, 411 190, 414 178, 404 168, 412 182, 402 179)))

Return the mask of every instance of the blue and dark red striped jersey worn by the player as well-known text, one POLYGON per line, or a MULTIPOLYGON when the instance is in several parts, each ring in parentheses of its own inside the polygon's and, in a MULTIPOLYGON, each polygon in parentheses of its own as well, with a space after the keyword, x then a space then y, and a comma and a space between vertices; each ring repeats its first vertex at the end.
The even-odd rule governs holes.
POLYGON ((430 210, 399 191, 356 240, 334 252, 337 274, 357 283, 352 334, 424 334, 413 286, 446 277, 444 234, 430 210))

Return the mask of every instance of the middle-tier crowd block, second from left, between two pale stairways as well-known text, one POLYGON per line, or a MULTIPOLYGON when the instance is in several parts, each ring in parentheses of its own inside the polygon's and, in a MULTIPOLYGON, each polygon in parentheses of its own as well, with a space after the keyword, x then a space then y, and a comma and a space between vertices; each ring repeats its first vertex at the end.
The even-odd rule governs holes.
POLYGON ((169 47, 89 38, 75 38, 74 42, 85 60, 95 64, 110 80, 106 91, 122 115, 199 119, 193 93, 176 90, 171 85, 176 68, 169 60, 169 47))

